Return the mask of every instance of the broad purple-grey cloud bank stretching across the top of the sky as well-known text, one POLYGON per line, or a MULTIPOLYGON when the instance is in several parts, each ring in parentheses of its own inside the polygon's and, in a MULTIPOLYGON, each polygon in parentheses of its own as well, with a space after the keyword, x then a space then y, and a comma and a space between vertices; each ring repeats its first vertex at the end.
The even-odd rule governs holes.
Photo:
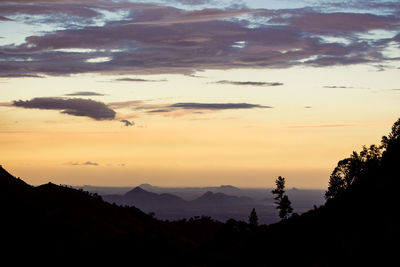
MULTIPOLYGON (((0 16, 4 18, 18 16, 19 23, 34 25, 35 22, 38 29, 41 24, 50 23, 59 29, 28 36, 22 44, 0 46, 0 77, 193 74, 205 69, 377 64, 391 60, 382 51, 391 42, 400 40, 399 35, 365 37, 371 30, 398 31, 399 7, 392 5, 392 12, 380 12, 387 8, 387 3, 374 2, 376 8, 369 8, 368 14, 365 10, 358 12, 368 6, 366 1, 346 12, 338 12, 333 4, 326 9, 282 10, 243 7, 184 10, 167 4, 0 3, 0 16), (332 8, 336 11, 330 12, 332 8), (107 20, 104 12, 125 15, 107 20), (346 42, 329 41, 330 37, 346 42), (235 45, 238 43, 243 45, 235 45), (109 60, 93 61, 96 58, 109 60)), ((120 81, 150 80, 121 78, 120 81)))

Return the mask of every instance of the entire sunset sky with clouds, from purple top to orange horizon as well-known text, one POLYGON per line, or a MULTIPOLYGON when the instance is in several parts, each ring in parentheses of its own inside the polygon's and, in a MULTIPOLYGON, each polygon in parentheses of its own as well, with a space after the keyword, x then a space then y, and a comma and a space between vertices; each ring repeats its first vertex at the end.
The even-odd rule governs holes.
POLYGON ((327 187, 400 115, 398 1, 0 2, 0 164, 28 183, 327 187))

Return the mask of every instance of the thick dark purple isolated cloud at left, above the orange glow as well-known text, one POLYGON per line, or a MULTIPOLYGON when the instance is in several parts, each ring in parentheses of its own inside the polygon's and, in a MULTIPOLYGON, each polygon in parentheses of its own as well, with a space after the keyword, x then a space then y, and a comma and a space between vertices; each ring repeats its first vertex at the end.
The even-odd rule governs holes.
POLYGON ((85 116, 95 120, 112 120, 115 111, 102 102, 82 98, 38 97, 32 100, 18 100, 13 106, 22 108, 61 110, 73 116, 85 116))

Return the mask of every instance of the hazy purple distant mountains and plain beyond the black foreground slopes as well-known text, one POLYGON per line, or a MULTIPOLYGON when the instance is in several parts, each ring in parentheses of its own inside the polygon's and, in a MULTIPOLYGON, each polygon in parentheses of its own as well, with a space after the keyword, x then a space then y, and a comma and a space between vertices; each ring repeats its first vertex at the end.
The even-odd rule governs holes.
MULTIPOLYGON (((135 206, 144 212, 154 212, 164 220, 211 216, 219 221, 230 218, 247 221, 253 208, 260 223, 279 221, 270 188, 219 187, 158 187, 141 184, 131 187, 83 186, 85 191, 100 194, 104 200, 119 205, 135 206)), ((324 203, 323 190, 288 189, 287 194, 297 213, 324 203)))

